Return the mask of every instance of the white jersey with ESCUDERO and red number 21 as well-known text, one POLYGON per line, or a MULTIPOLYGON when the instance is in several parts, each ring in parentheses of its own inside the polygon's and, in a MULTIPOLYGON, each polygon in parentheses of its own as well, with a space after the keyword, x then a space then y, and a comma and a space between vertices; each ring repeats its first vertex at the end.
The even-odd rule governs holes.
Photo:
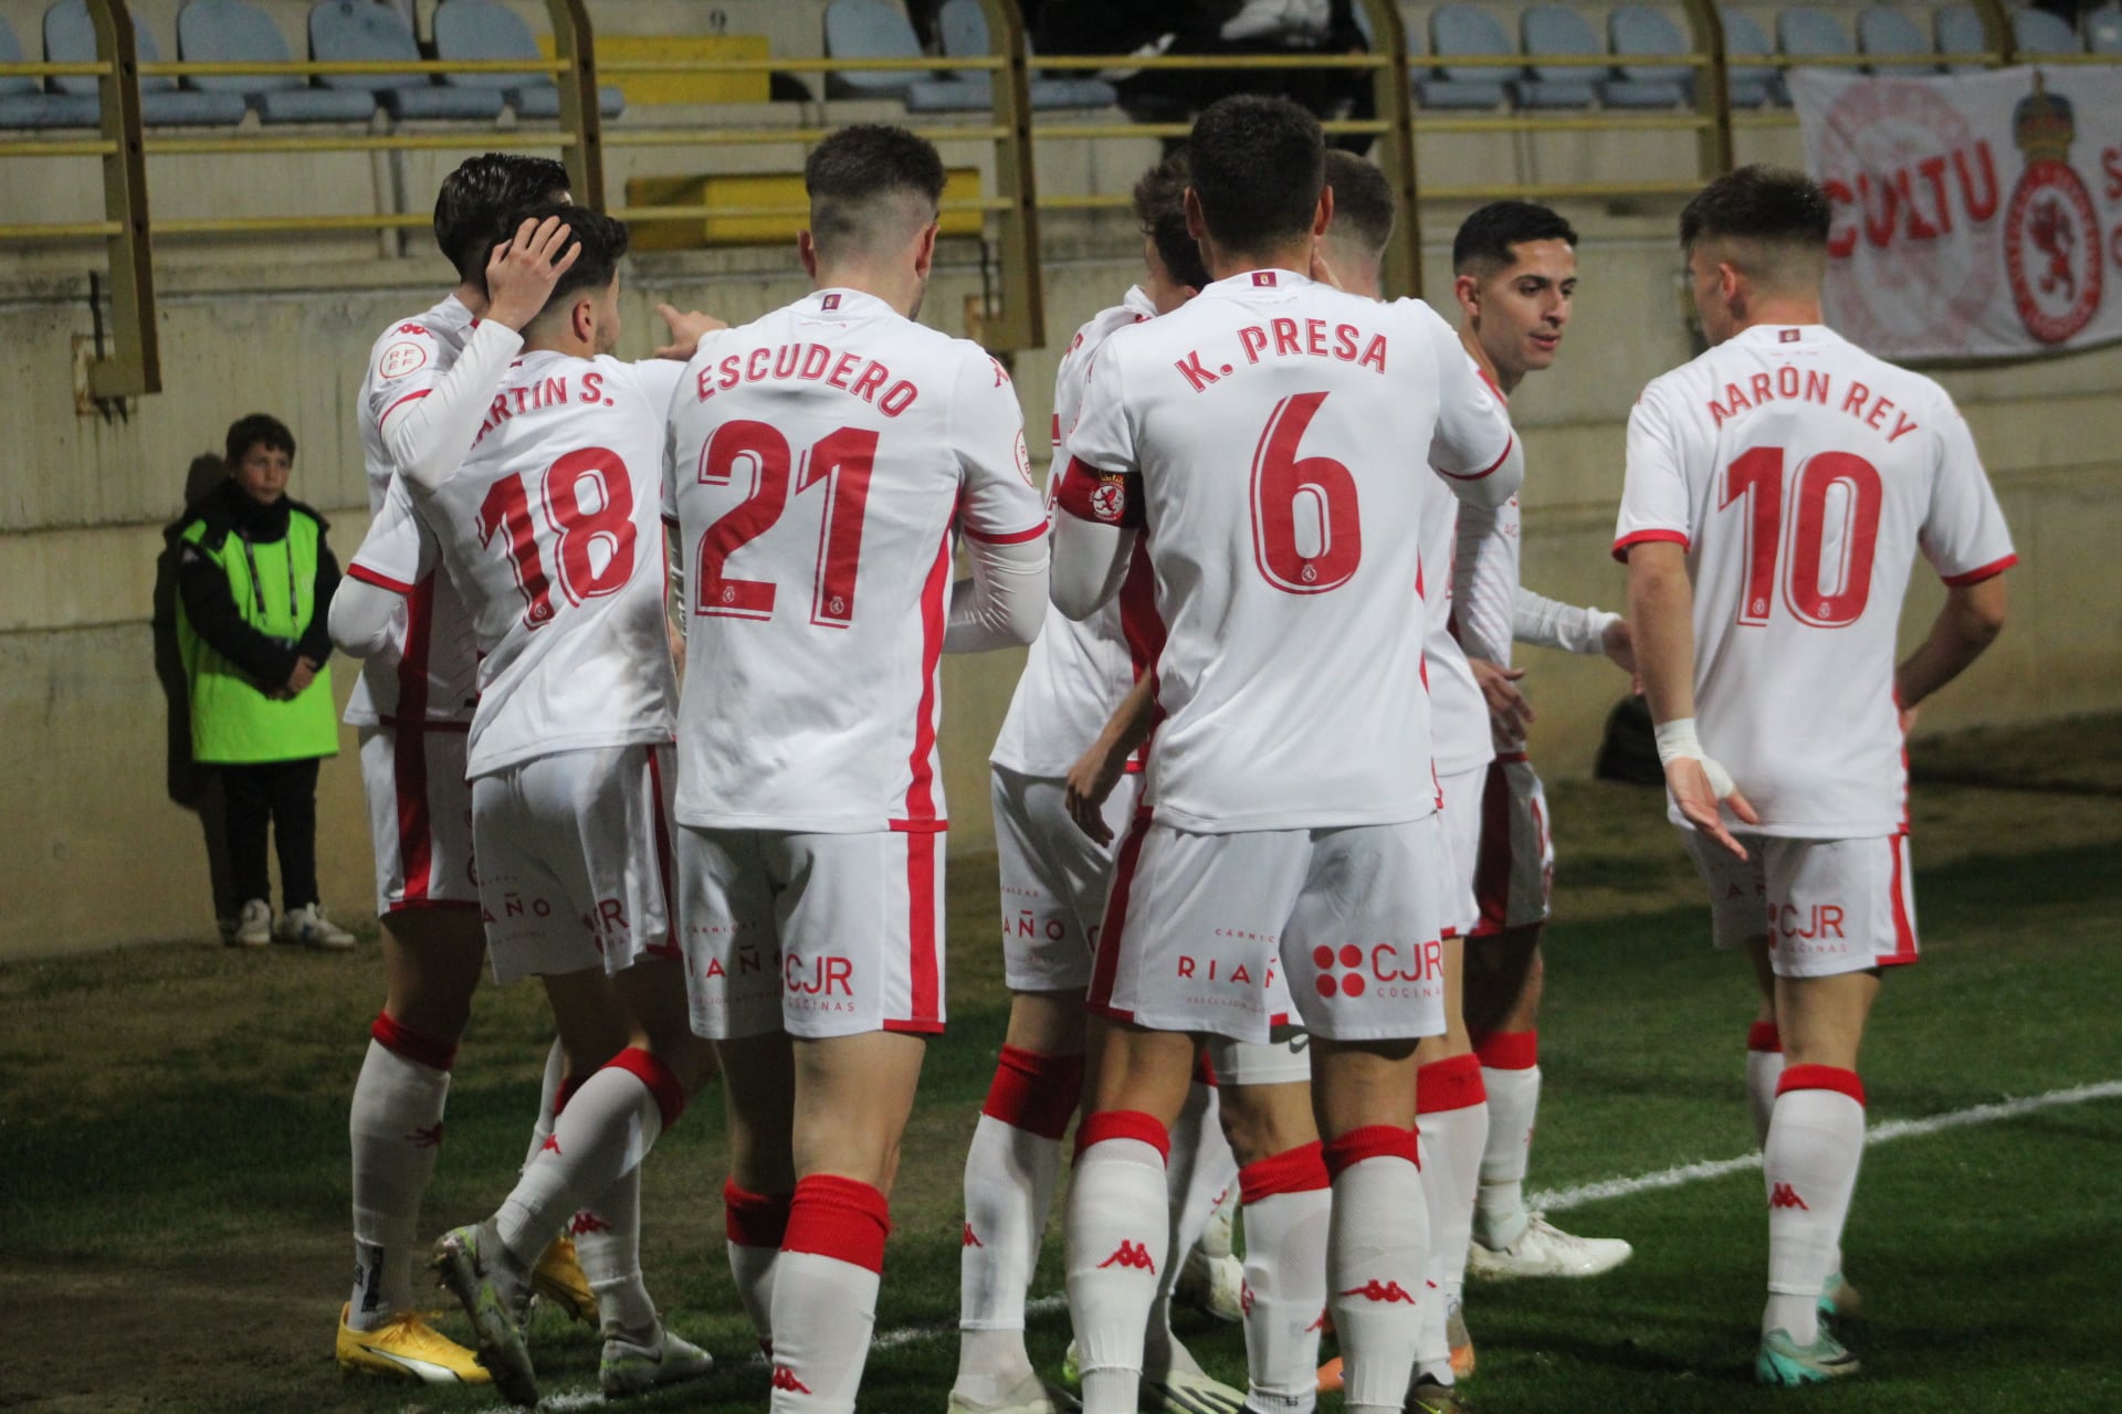
POLYGON ((951 532, 1046 534, 1002 365, 817 290, 700 341, 664 477, 688 600, 679 820, 942 829, 951 532))

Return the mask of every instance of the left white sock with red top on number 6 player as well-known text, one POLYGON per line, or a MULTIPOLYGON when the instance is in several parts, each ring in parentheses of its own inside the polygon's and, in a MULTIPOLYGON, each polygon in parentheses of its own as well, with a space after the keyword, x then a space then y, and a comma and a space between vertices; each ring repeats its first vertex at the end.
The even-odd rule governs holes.
POLYGON ((1082 1121, 1063 1238, 1084 1414, 1135 1414, 1144 1327, 1171 1236, 1165 1126, 1135 1111, 1082 1121))

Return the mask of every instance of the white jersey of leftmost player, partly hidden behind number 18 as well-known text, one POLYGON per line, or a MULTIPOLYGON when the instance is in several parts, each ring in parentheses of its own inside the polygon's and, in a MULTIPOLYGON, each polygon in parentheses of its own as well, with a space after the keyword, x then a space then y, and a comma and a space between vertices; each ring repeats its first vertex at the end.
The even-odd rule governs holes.
MULTIPOLYGON (((369 348, 361 379, 361 462, 369 483, 369 517, 382 515, 393 464, 384 424, 424 399, 450 371, 477 320, 450 295, 439 305, 386 329, 369 348)), ((412 524, 403 530, 412 534, 412 524)), ((405 604, 405 632, 361 664, 361 678, 346 702, 346 725, 376 727, 405 721, 471 721, 477 702, 480 653, 471 615, 450 585, 433 577, 414 585, 405 604)))

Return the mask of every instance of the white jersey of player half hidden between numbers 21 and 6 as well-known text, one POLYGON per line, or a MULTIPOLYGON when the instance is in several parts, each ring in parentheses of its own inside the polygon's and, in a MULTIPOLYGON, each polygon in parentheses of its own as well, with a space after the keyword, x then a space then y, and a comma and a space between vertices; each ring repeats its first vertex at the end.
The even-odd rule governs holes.
MULTIPOLYGON (((1091 358, 1114 329, 1127 329, 1156 318, 1156 305, 1142 286, 1091 318, 1076 331, 1061 367, 1055 369, 1055 460, 1046 469, 1046 500, 1061 485, 1067 430, 1082 411, 1084 375, 1091 358)), ((1046 623, 1031 642, 1025 672, 1016 678, 1010 710, 995 736, 989 761, 1023 776, 1067 776, 1076 759, 1106 729, 1112 708, 1135 683, 1135 668, 1120 634, 1120 600, 1076 623, 1065 613, 1046 606, 1046 623)))

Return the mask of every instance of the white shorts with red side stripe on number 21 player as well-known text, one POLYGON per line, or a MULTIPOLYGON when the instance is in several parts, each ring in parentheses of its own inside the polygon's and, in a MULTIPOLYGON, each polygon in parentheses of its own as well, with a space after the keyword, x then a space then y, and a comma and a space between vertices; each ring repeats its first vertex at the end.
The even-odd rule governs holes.
POLYGON ((694 1032, 940 1032, 942 856, 940 831, 681 827, 679 939, 694 1032))

